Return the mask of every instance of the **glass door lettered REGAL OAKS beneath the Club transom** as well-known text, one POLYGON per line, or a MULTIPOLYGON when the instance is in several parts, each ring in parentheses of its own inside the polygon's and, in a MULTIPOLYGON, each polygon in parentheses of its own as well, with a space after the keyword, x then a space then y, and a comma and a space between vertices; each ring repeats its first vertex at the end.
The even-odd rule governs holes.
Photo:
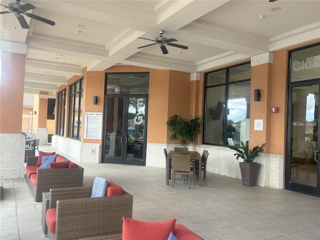
POLYGON ((289 87, 286 189, 320 196, 319 81, 308 83, 289 87))

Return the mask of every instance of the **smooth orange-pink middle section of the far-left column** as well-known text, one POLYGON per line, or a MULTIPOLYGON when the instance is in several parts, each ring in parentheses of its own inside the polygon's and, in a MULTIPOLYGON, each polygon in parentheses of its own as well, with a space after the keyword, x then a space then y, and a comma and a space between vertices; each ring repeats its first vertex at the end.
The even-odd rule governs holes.
POLYGON ((25 55, 1 52, 0 133, 20 133, 25 55))

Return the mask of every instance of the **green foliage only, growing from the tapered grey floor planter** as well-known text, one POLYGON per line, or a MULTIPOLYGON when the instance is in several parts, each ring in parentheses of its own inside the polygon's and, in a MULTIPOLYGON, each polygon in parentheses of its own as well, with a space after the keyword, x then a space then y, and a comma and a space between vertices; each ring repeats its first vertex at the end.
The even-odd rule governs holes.
POLYGON ((242 146, 241 148, 237 148, 235 146, 228 146, 230 149, 237 151, 233 155, 235 155, 235 158, 238 160, 239 157, 243 159, 246 163, 252 163, 254 161, 254 158, 259 154, 259 152, 263 151, 263 146, 265 143, 261 144, 261 146, 254 146, 252 150, 249 149, 249 141, 240 141, 240 144, 242 146))

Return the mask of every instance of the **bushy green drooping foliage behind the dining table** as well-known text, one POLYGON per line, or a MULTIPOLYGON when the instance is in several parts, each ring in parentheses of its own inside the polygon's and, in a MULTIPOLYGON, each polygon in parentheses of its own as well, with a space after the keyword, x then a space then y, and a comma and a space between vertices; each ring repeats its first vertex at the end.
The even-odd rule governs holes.
POLYGON ((166 125, 172 134, 170 140, 181 138, 180 144, 186 146, 186 141, 193 143, 196 136, 201 132, 203 119, 202 116, 191 116, 190 120, 180 117, 180 115, 172 115, 166 121, 166 125))

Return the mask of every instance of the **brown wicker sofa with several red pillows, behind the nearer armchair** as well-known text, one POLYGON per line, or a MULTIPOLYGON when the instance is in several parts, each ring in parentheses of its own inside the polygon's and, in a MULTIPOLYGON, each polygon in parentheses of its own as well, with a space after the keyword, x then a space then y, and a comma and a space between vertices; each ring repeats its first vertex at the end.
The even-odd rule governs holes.
MULTIPOLYGON (((61 157, 61 155, 57 154, 58 156, 61 157)), ((24 176, 35 201, 42 201, 42 192, 48 192, 50 188, 83 185, 83 167, 70 161, 73 165, 72 168, 38 169, 37 160, 38 156, 28 156, 26 158, 26 174, 24 176), (32 178, 34 179, 35 177, 36 184, 34 185, 32 178)))

